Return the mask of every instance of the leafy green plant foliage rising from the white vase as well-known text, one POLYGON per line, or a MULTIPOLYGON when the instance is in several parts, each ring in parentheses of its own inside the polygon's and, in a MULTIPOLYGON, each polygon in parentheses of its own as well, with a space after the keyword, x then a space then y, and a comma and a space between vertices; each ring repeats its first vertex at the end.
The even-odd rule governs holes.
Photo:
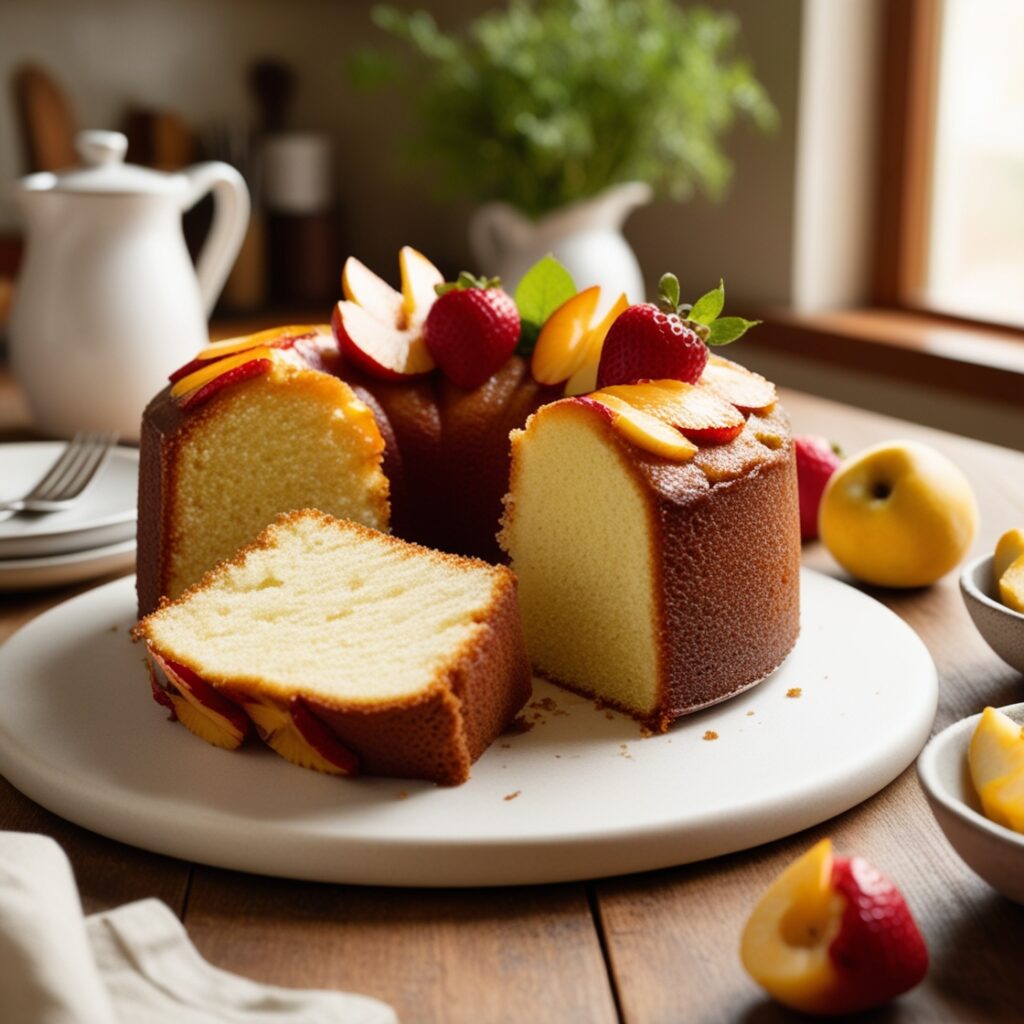
POLYGON ((426 11, 373 8, 412 58, 356 54, 356 80, 404 88, 414 153, 446 189, 538 215, 620 181, 720 195, 721 139, 775 110, 734 55, 738 22, 674 0, 512 0, 459 33, 426 11))

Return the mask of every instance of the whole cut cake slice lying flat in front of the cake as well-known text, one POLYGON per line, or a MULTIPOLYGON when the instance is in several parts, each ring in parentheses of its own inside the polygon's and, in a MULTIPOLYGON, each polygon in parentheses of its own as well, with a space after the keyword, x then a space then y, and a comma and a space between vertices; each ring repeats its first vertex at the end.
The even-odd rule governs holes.
POLYGON ((309 509, 135 636, 155 697, 198 735, 231 748, 255 731, 334 774, 463 782, 530 692, 509 569, 309 509))

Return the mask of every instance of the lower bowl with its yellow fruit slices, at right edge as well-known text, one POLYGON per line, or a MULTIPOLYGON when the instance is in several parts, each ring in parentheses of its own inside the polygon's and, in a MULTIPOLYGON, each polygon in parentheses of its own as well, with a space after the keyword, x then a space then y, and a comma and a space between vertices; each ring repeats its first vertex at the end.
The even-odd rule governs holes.
POLYGON ((963 861, 1024 903, 1024 703, 986 708, 933 736, 918 775, 963 861))

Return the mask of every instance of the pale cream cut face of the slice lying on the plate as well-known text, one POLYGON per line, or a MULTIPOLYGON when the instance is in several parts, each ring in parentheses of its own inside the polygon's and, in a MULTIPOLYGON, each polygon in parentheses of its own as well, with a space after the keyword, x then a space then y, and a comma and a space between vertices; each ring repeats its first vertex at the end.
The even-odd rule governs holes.
POLYGON ((150 642, 239 691, 376 706, 443 676, 488 629, 501 584, 483 563, 315 513, 274 525, 266 545, 152 615, 150 642))

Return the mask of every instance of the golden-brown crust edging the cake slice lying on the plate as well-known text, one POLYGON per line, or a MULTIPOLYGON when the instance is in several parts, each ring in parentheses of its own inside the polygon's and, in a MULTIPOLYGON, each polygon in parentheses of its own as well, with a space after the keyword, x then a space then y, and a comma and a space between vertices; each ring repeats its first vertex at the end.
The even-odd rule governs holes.
POLYGON ((190 669, 231 700, 258 698, 287 710, 287 700, 268 690, 266 682, 258 677, 218 677, 205 670, 199 657, 160 650, 152 636, 152 625, 160 610, 184 603, 208 589, 232 567, 243 565, 251 553, 272 547, 276 531, 300 519, 315 519, 449 567, 484 569, 493 577, 492 601, 479 613, 479 629, 451 652, 433 682, 421 692, 373 705, 330 700, 301 690, 289 695, 301 697, 341 742, 358 756, 362 770, 370 774, 424 778, 443 785, 465 781, 472 762, 512 721, 530 693, 530 670, 522 640, 515 577, 505 566, 434 551, 356 522, 335 519, 316 509, 302 509, 279 516, 256 540, 208 571, 176 600, 163 598, 160 609, 132 630, 133 638, 145 641, 157 653, 190 669))

